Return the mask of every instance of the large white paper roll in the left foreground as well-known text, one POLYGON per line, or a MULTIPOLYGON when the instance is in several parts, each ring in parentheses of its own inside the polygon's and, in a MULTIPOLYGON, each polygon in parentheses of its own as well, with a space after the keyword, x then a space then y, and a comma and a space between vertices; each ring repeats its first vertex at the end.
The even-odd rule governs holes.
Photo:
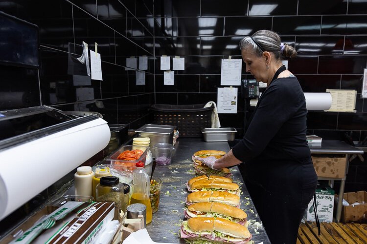
POLYGON ((0 220, 106 147, 96 119, 0 152, 0 220))

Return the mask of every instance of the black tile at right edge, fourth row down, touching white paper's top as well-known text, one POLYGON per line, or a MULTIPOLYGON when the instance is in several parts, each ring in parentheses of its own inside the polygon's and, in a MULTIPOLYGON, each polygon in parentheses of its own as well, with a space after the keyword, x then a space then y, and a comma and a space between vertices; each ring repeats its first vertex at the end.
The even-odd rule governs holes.
POLYGON ((321 56, 320 74, 362 74, 366 68, 366 56, 321 56))

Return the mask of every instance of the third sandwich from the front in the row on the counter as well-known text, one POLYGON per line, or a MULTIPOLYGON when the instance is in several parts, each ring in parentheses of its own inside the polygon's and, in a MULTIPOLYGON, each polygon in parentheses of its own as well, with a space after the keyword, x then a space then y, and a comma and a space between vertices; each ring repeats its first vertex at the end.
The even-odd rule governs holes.
POLYGON ((225 203, 240 207, 240 197, 229 192, 222 191, 197 191, 187 195, 186 205, 194 203, 225 203))

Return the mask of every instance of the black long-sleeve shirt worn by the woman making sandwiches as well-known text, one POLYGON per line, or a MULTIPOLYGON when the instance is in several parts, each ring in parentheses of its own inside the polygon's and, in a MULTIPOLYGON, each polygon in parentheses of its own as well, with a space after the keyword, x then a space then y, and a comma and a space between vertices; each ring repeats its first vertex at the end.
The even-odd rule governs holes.
POLYGON ((259 99, 244 138, 233 147, 233 155, 253 169, 264 163, 311 162, 306 115, 297 78, 272 81, 259 99))

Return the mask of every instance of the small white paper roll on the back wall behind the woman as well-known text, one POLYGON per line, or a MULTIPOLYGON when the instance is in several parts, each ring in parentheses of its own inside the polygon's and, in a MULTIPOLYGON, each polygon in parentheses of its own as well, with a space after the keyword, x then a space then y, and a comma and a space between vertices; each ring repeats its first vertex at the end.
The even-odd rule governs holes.
POLYGON ((328 110, 331 107, 331 94, 329 92, 305 92, 307 110, 328 110))

